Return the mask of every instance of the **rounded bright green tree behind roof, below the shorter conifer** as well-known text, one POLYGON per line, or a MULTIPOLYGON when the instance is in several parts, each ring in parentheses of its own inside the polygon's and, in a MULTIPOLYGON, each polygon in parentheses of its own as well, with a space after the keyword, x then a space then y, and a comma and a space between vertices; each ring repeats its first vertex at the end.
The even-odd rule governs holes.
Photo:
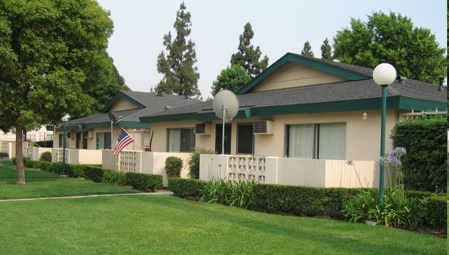
POLYGON ((221 89, 237 93, 249 81, 251 81, 251 76, 246 73, 245 68, 241 65, 231 65, 231 67, 221 70, 217 80, 212 82, 212 96, 221 89))

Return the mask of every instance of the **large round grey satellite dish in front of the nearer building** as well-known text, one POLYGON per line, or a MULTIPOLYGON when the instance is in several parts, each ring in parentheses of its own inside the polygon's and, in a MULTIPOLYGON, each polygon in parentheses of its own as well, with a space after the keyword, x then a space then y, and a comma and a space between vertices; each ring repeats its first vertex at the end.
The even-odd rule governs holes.
POLYGON ((214 112, 223 121, 232 120, 239 112, 239 99, 230 90, 220 90, 214 97, 214 112))

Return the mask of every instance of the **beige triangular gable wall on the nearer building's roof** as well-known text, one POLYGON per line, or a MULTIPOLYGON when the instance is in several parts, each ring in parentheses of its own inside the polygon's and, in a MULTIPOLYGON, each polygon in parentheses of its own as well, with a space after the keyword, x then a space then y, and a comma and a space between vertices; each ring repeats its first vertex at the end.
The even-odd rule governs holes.
POLYGON ((283 88, 295 88, 318 84, 347 81, 340 76, 322 72, 297 63, 286 63, 281 68, 266 77, 264 81, 251 89, 250 92, 266 90, 279 90, 283 88))

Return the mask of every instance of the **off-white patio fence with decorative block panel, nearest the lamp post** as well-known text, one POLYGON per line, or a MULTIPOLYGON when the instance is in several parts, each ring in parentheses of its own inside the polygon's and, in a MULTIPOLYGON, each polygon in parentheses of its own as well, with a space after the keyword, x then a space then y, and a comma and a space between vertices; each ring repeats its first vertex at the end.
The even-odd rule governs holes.
MULTIPOLYGON (((353 161, 353 164, 342 160, 202 154, 200 179, 312 187, 378 187, 378 162, 353 161)), ((387 185, 386 180, 384 184, 387 185)))

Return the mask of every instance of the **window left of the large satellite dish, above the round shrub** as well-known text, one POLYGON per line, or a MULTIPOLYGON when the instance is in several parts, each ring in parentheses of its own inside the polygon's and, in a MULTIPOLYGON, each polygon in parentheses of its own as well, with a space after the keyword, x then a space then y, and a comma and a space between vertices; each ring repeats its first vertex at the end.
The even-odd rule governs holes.
POLYGON ((169 128, 167 152, 191 152, 195 147, 194 128, 169 128))

